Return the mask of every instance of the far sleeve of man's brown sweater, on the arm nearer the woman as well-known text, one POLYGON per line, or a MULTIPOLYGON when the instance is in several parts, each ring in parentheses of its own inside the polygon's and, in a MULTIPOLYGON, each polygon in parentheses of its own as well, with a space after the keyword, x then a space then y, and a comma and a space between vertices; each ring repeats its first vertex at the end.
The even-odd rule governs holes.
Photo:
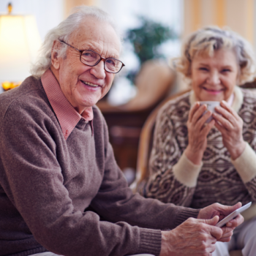
MULTIPOLYGON (((127 222, 130 225, 152 229, 173 229, 189 217, 197 217, 199 211, 192 208, 161 203, 159 200, 133 194, 123 173, 116 164, 113 149, 108 142, 105 125, 105 175, 91 206, 111 222, 127 222), (132 211, 131 211, 132 209, 132 211)), ((148 231, 149 232, 149 231, 148 231)))

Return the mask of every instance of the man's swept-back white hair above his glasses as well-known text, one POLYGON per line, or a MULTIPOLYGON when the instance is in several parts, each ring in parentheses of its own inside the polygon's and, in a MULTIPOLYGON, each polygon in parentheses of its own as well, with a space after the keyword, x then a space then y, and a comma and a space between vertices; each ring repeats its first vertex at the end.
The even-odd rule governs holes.
MULTIPOLYGON (((84 5, 75 7, 72 10, 72 14, 69 15, 66 20, 61 21, 59 26, 51 29, 48 34, 46 34, 45 41, 39 48, 39 55, 37 56, 37 60, 34 64, 31 64, 31 75, 33 75, 35 78, 40 78, 42 76, 42 74, 51 65, 51 50, 53 48, 53 42, 56 40, 69 42, 69 37, 72 32, 76 31, 83 19, 89 16, 97 18, 99 21, 109 23, 110 26, 112 26, 116 31, 116 34, 118 35, 121 42, 121 37, 118 33, 118 29, 116 28, 114 20, 107 12, 104 12, 98 7, 89 7, 84 5)), ((58 55, 61 56, 61 58, 65 58, 66 52, 67 45, 61 44, 61 49, 59 49, 58 55)))

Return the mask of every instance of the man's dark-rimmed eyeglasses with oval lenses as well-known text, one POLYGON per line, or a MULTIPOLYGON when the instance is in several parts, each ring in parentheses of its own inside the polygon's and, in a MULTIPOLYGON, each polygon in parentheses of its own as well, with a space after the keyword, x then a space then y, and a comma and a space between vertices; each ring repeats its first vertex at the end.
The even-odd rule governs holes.
MULTIPOLYGON (((66 45, 69 45, 67 42, 61 41, 66 45)), ((78 50, 72 45, 69 45, 70 47, 74 48, 75 50, 78 50)), ((124 67, 124 63, 119 61, 118 59, 115 58, 102 58, 102 56, 99 55, 99 53, 95 53, 93 50, 78 50, 80 52, 80 61, 83 64, 86 64, 87 66, 94 67, 96 66, 99 61, 103 60, 104 61, 104 69, 107 72, 116 74, 118 73, 122 67, 124 67)))

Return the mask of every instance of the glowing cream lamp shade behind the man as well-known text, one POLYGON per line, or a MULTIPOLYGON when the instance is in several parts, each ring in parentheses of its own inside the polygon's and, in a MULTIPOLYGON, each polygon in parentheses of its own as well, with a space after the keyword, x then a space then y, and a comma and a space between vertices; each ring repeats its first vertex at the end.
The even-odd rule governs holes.
POLYGON ((0 15, 0 81, 29 76, 41 39, 33 15, 0 15))

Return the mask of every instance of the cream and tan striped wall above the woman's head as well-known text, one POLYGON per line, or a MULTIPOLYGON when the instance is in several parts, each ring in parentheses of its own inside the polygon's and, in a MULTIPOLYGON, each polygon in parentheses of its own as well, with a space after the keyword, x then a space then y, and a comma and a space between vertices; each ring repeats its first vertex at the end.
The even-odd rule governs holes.
POLYGON ((203 26, 228 26, 256 48, 255 0, 184 0, 184 33, 203 26))

